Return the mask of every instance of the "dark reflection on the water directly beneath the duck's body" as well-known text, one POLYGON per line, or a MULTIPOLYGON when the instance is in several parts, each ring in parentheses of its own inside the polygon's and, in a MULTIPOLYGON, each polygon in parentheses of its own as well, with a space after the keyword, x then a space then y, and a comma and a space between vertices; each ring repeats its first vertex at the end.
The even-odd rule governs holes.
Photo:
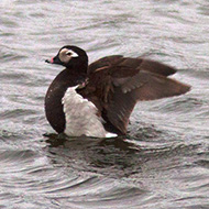
MULTIPOLYGON (((50 148, 50 152, 56 155, 55 158, 61 155, 66 161, 70 162, 73 160, 75 164, 81 163, 82 165, 73 165, 78 166, 79 169, 96 173, 101 170, 113 177, 131 175, 134 173, 135 164, 136 166, 140 165, 139 147, 125 139, 81 136, 79 140, 65 138, 61 140, 54 136, 56 135, 52 135, 47 142, 51 147, 57 148, 50 148), (110 172, 111 169, 112 172, 110 172), (128 174, 124 174, 124 172, 128 174)), ((135 167, 135 169, 138 168, 135 167)))

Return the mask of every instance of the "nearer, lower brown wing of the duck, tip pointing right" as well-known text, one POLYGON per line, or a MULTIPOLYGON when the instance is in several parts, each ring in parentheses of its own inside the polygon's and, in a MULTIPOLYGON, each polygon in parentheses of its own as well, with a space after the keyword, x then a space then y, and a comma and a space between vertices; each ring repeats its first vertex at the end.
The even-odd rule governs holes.
POLYGON ((108 119, 121 132, 125 133, 130 114, 139 100, 154 100, 178 96, 187 92, 190 87, 177 80, 140 70, 127 79, 114 79, 114 95, 108 106, 108 119))

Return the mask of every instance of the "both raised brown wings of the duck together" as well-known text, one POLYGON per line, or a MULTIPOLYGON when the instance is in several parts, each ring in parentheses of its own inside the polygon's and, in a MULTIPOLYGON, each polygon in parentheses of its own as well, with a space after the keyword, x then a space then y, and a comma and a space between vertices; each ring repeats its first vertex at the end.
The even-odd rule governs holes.
POLYGON ((89 82, 79 94, 97 106, 110 125, 125 134, 139 100, 161 99, 189 90, 189 86, 166 77, 175 72, 154 61, 105 57, 89 66, 89 82))

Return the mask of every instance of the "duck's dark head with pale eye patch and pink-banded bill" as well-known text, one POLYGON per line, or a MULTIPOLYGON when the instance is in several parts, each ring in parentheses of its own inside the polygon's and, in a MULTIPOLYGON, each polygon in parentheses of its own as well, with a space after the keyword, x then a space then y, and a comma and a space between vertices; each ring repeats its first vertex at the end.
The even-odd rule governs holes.
POLYGON ((46 59, 46 63, 63 65, 67 68, 86 68, 88 67, 88 56, 86 52, 77 46, 66 45, 63 46, 58 54, 51 58, 46 59))

